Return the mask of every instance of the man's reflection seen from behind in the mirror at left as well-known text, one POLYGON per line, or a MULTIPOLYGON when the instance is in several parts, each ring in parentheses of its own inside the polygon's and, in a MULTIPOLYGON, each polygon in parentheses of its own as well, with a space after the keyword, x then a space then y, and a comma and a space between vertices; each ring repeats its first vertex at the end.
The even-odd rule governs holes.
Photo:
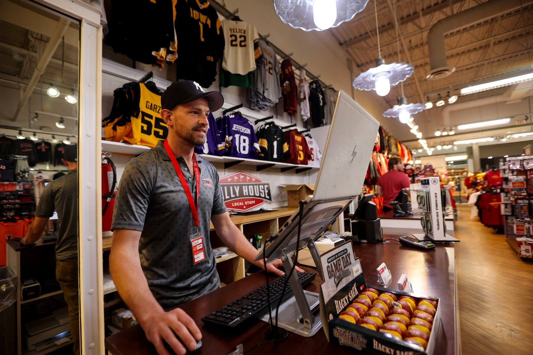
POLYGON ((55 279, 61 286, 68 305, 69 329, 74 340, 74 353, 79 354, 79 296, 78 296, 78 147, 64 147, 63 164, 68 174, 50 181, 39 199, 35 220, 26 238, 20 243, 34 244, 43 235, 54 211, 58 213, 58 240, 55 243, 55 279))

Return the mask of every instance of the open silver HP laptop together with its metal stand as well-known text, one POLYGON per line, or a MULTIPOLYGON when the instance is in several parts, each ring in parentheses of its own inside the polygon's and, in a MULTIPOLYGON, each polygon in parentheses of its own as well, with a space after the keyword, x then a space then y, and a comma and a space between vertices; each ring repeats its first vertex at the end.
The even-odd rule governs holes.
MULTIPOLYGON (((343 91, 338 93, 314 195, 308 197, 302 206, 300 243, 298 210, 280 227, 277 236, 264 244, 255 260, 265 257, 270 262, 281 258, 285 270, 289 272, 294 266, 291 254, 307 246, 322 276, 320 256, 314 240, 360 195, 378 128, 377 120, 348 94, 343 91)), ((282 306, 293 312, 280 312, 277 322, 290 332, 312 336, 321 327, 320 318, 313 316, 309 306, 318 305, 318 294, 304 292, 296 273, 289 277, 289 282, 294 297, 282 306), (297 310, 301 314, 300 319, 293 316, 298 313, 295 312, 297 310)), ((268 321, 268 317, 265 316, 263 320, 268 321)))

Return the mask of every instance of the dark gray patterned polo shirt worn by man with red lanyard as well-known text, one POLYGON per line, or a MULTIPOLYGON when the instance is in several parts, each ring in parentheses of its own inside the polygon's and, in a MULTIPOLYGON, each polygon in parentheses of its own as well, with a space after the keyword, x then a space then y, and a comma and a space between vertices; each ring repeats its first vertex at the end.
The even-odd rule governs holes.
MULTIPOLYGON (((165 309, 213 291, 220 286, 215 256, 209 240, 212 214, 227 211, 219 174, 196 155, 200 169, 199 230, 204 237, 205 260, 192 262, 190 236, 196 233, 185 191, 163 141, 132 158, 118 185, 111 230, 141 231, 139 257, 150 291, 165 309)), ((185 160, 177 157, 196 201, 196 179, 185 160)))

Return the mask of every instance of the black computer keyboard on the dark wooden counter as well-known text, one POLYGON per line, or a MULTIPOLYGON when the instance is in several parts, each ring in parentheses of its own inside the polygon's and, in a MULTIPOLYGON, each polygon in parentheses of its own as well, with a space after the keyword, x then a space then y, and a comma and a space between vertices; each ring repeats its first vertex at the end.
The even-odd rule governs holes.
MULTIPOLYGON (((316 273, 314 272, 298 272, 298 278, 300 279, 302 287, 309 285, 311 281, 314 280, 315 276, 316 273)), ((269 283, 270 305, 272 310, 275 310, 278 305, 279 297, 281 297, 281 291, 283 291, 283 286, 285 285, 286 280, 287 276, 284 275, 272 283, 269 283)), ((283 300, 285 301, 292 296, 293 290, 290 287, 290 283, 288 283, 283 300)), ((207 316, 201 320, 206 324, 209 323, 235 328, 248 319, 261 318, 266 312, 268 312, 268 301, 266 300, 265 285, 241 298, 237 298, 237 300, 223 306, 221 309, 216 310, 211 314, 207 314, 207 316)))

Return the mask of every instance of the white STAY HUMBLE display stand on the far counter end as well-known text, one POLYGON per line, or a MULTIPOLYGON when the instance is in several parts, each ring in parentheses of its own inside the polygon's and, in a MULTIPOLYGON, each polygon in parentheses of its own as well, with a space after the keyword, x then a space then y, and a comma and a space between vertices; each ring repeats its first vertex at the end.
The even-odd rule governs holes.
MULTIPOLYGON (((420 222, 424 233, 414 233, 413 237, 418 240, 431 240, 439 242, 459 241, 446 233, 445 215, 454 214, 446 212, 442 206, 442 191, 440 188, 440 178, 433 176, 421 180, 420 190, 411 190, 416 192, 416 201, 418 207, 422 209, 420 222)), ((448 190, 454 188, 446 188, 448 190)))

